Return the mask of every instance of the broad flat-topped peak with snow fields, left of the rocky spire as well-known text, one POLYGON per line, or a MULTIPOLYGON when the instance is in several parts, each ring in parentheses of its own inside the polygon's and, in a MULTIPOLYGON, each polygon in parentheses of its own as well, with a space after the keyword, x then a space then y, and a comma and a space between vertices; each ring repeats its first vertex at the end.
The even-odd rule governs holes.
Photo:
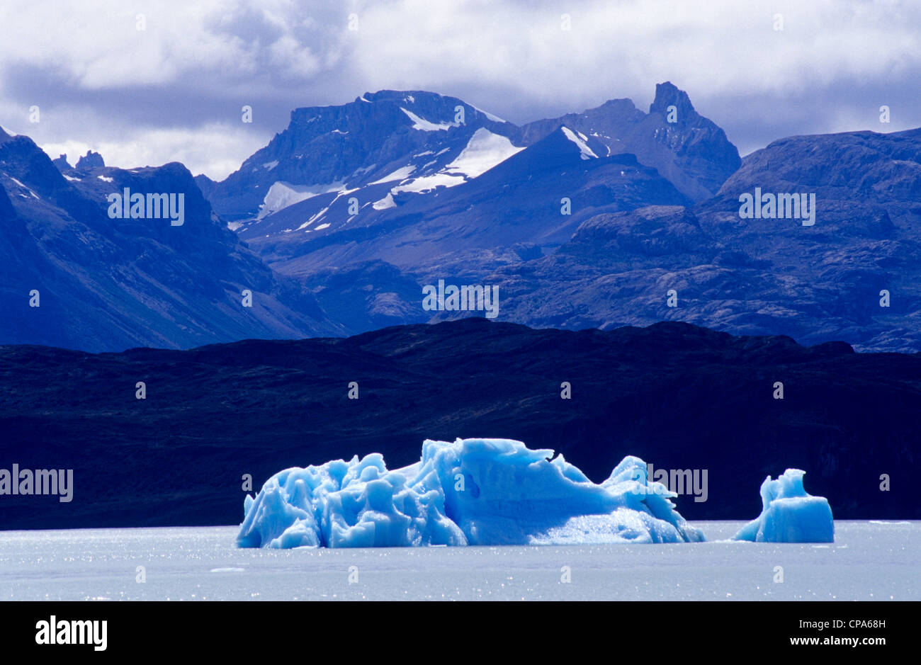
POLYGON ((227 180, 199 181, 230 221, 259 220, 327 193, 380 206, 390 189, 450 186, 495 166, 519 149, 507 139, 514 129, 461 99, 381 90, 343 106, 292 111, 286 130, 227 180))

